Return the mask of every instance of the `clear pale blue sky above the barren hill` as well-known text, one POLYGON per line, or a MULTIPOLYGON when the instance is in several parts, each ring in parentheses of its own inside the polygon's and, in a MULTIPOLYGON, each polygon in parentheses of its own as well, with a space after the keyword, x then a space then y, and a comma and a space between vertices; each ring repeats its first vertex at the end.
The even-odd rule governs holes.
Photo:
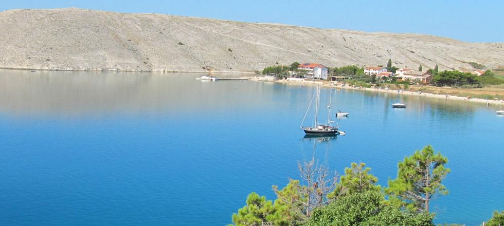
POLYGON ((62 1, 0 0, 0 11, 77 7, 360 31, 424 33, 466 42, 504 42, 504 1, 62 1))

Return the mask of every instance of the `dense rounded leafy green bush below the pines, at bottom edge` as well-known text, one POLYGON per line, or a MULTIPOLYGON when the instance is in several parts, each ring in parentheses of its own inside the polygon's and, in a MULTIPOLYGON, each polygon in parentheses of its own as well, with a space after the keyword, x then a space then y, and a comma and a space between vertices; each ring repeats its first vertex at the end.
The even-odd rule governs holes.
POLYGON ((433 215, 408 213, 383 203, 383 194, 376 191, 341 197, 327 206, 315 209, 305 226, 434 225, 433 215))

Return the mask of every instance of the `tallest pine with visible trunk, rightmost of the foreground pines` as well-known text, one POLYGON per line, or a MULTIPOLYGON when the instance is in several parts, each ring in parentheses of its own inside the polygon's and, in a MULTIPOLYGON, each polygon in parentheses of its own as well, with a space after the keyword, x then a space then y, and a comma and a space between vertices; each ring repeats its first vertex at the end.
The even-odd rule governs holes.
POLYGON ((450 172, 444 165, 448 159, 434 154, 428 145, 415 154, 405 157, 398 164, 398 176, 388 181, 385 192, 391 204, 413 212, 429 212, 429 201, 437 195, 446 195, 448 190, 441 181, 450 172))

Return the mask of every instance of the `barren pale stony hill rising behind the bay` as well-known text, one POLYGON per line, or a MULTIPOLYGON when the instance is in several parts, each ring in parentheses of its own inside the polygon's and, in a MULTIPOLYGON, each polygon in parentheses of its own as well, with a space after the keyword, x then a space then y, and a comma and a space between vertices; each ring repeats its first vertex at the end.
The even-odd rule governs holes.
POLYGON ((316 62, 440 69, 504 65, 504 43, 83 9, 0 12, 0 67, 254 71, 316 62))

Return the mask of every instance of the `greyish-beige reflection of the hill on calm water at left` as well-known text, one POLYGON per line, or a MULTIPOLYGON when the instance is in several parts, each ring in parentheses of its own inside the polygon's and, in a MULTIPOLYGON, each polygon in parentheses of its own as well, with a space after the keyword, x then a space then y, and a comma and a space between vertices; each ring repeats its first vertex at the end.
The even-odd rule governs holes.
MULTIPOLYGON (((200 74, 0 70, 0 113, 21 117, 113 115, 117 112, 169 114, 240 106, 241 100, 251 100, 249 93, 257 93, 256 97, 265 99, 275 97, 275 89, 259 87, 271 84, 202 83, 195 81, 197 76, 200 74)), ((241 107, 258 104, 256 99, 241 107)))

